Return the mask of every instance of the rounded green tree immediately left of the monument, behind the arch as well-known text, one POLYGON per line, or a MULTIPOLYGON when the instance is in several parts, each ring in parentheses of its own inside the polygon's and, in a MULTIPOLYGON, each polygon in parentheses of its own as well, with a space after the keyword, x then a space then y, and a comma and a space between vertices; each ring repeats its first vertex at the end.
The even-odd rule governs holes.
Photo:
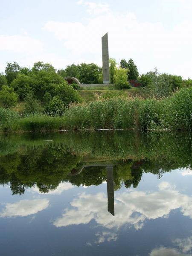
POLYGON ((82 84, 97 84, 101 68, 96 64, 82 63, 79 67, 79 80, 82 84))

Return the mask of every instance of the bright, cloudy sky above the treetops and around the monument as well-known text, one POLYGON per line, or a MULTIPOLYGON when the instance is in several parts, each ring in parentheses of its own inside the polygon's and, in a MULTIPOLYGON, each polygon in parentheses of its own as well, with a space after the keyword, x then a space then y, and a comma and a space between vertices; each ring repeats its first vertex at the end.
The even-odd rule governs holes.
POLYGON ((117 63, 192 78, 192 0, 0 0, 0 9, 0 72, 13 61, 102 66, 108 32, 117 63))

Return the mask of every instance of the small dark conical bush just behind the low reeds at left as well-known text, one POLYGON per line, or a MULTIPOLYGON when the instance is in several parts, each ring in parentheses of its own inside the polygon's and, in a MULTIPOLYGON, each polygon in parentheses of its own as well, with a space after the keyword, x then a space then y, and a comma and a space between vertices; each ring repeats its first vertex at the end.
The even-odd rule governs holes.
POLYGON ((35 113, 42 111, 40 101, 38 101, 38 99, 35 99, 35 96, 32 93, 26 94, 24 102, 26 113, 31 113, 34 115, 35 113))

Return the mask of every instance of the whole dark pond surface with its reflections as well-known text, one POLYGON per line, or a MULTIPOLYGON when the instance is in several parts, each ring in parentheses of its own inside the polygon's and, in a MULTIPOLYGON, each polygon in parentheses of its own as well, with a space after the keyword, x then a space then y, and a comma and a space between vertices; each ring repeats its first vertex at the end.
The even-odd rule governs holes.
POLYGON ((0 136, 0 255, 192 255, 187 133, 0 136))

